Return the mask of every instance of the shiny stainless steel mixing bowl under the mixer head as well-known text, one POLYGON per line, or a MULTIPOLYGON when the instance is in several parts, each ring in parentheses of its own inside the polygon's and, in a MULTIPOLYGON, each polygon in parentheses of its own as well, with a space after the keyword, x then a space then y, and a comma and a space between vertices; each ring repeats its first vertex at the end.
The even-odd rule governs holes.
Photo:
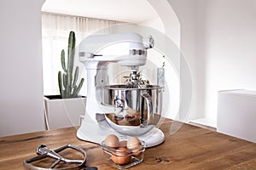
POLYGON ((162 113, 162 88, 143 85, 131 88, 127 85, 110 85, 102 88, 102 105, 119 108, 119 112, 107 112, 111 127, 125 135, 143 135, 159 121, 162 113))

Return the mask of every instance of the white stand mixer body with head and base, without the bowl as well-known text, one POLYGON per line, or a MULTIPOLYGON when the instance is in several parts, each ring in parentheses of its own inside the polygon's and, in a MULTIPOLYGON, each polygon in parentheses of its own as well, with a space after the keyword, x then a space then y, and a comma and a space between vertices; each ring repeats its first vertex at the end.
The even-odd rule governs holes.
MULTIPOLYGON (((152 37, 142 37, 137 33, 90 36, 80 43, 80 61, 87 70, 87 101, 85 115, 77 131, 79 139, 100 144, 108 134, 124 136, 109 125, 105 116, 106 112, 118 113, 121 108, 102 105, 102 87, 108 85, 108 64, 118 63, 128 66, 131 71, 138 71, 139 66, 146 64, 147 48, 153 46, 152 37)), ((137 130, 140 127, 128 135, 135 136, 137 130)), ((161 144, 165 139, 157 127, 137 137, 148 147, 161 144)))

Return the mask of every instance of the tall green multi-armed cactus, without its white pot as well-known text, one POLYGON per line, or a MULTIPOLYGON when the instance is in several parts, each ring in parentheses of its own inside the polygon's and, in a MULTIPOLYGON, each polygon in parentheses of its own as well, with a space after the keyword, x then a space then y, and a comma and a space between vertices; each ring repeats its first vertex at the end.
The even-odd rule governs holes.
POLYGON ((62 99, 78 97, 79 91, 84 83, 84 78, 81 78, 79 86, 77 86, 77 81, 79 77, 79 66, 76 67, 73 75, 75 43, 75 33, 73 31, 70 31, 67 46, 67 63, 65 61, 65 51, 64 49, 62 49, 61 66, 64 72, 58 72, 59 89, 62 99))

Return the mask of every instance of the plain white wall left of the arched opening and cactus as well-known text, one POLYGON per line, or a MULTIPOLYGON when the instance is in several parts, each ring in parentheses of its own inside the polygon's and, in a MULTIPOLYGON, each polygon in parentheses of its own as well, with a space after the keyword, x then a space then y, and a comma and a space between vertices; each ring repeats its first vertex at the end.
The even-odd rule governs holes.
POLYGON ((0 1, 0 136, 44 130, 42 3, 0 1))

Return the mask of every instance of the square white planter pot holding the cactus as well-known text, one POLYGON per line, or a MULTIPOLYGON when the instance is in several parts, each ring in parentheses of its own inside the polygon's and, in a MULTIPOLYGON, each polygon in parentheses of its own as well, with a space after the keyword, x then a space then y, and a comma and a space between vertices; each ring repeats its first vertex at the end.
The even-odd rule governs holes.
POLYGON ((49 129, 78 127, 80 116, 84 116, 86 98, 57 99, 58 96, 44 96, 45 122, 49 129))

